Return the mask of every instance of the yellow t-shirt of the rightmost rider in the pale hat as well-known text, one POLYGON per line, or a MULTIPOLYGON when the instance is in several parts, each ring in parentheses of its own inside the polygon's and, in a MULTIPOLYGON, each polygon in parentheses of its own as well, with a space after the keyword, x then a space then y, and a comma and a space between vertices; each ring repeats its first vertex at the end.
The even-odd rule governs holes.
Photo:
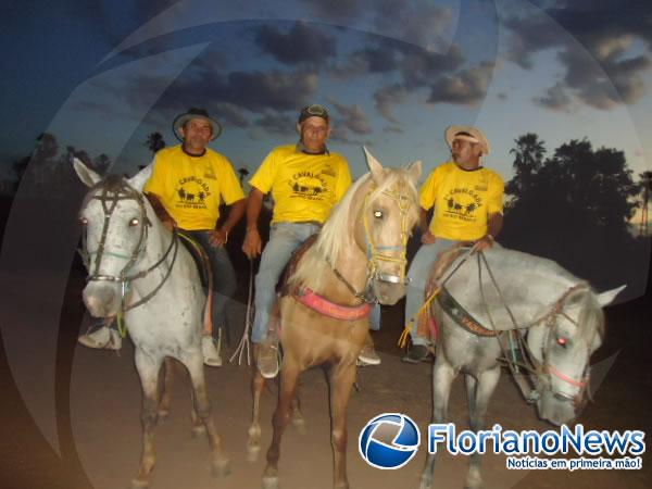
POLYGON ((419 192, 425 210, 435 205, 430 233, 454 240, 479 239, 487 234, 487 217, 503 210, 504 184, 500 175, 479 167, 465 171, 444 163, 428 176, 419 192))

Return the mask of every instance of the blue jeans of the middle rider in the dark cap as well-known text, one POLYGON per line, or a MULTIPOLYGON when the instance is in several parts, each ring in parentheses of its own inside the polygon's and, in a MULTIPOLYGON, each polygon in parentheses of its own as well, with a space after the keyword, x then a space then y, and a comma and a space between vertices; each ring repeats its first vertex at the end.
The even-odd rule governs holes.
MULTIPOLYGON (((292 252, 309 237, 319 231, 316 224, 275 223, 269 229, 269 241, 263 250, 261 265, 255 276, 255 316, 251 341, 261 343, 267 336, 269 313, 276 300, 276 283, 292 252)), ((372 324, 379 325, 380 308, 372 311, 372 324)), ((377 329, 372 327, 373 329, 377 329)))

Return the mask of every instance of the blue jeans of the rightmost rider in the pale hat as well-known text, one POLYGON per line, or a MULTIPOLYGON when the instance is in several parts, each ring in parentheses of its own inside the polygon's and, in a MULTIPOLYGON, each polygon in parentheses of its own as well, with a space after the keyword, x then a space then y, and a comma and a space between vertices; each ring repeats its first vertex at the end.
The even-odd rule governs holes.
POLYGON ((410 336, 412 337, 413 344, 424 344, 427 346, 429 343, 428 338, 424 338, 423 336, 417 335, 417 325, 418 317, 416 314, 418 310, 424 304, 424 293, 426 289, 426 280, 430 275, 430 271, 432 269, 432 265, 437 260, 437 255, 444 250, 448 250, 450 247, 455 244, 459 241, 453 241, 451 239, 437 238, 437 240, 432 244, 422 244, 418 249, 412 263, 410 264, 410 269, 408 271, 408 277, 410 278, 410 285, 408 286, 408 293, 405 297, 405 323, 414 317, 414 323, 412 328, 410 329, 410 336))

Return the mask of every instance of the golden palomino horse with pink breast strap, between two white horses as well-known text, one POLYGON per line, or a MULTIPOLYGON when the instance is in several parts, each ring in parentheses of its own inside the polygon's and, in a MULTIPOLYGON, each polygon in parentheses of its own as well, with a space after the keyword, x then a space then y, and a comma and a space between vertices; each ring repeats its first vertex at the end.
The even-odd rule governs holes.
MULTIPOLYGON (((349 487, 347 404, 367 336, 368 302, 394 304, 405 293, 405 246, 417 220, 415 185, 421 175, 421 162, 408 170, 384 170, 368 152, 366 159, 371 173, 349 189, 296 264, 289 292, 279 297, 272 319, 284 359, 265 488, 278 487, 280 438, 290 421, 299 375, 322 364, 329 366, 334 487, 349 487)), ((255 376, 250 453, 260 448, 258 409, 264 379, 255 376)))

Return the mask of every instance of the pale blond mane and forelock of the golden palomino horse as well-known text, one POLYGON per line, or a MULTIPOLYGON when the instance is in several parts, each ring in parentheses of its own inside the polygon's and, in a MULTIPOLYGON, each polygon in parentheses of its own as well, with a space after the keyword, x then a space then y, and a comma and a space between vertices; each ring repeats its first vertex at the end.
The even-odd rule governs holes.
MULTIPOLYGON (((416 187, 408 170, 405 168, 385 168, 385 178, 368 197, 368 202, 373 202, 380 193, 404 184, 405 188, 416 200, 416 187)), ((297 266, 297 269, 288 280, 288 285, 293 287, 304 285, 313 290, 319 290, 323 285, 326 273, 331 271, 342 252, 358 246, 354 242, 355 220, 363 205, 363 196, 366 189, 372 185, 373 179, 369 173, 364 174, 349 188, 344 197, 337 203, 326 223, 319 231, 319 236, 310 250, 297 266)), ((413 206, 414 208, 414 206, 413 206)), ((416 212, 415 209, 413 209, 416 212)))

